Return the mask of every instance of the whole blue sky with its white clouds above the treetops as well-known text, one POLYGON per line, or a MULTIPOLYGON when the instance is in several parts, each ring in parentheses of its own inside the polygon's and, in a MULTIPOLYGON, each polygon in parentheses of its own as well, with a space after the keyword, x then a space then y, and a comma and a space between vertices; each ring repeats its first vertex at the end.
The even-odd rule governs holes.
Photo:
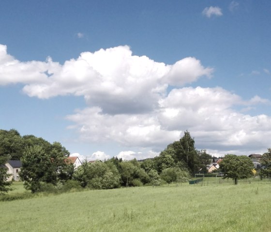
POLYGON ((0 129, 72 155, 271 147, 270 0, 2 0, 0 129))

